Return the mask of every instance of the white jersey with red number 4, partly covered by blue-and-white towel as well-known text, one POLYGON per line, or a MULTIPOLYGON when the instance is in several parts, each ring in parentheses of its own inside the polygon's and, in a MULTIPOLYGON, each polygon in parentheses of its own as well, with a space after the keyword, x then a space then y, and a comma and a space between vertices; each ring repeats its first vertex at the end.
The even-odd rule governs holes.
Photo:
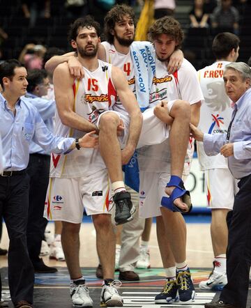
MULTIPOLYGON (((120 54, 116 51, 114 45, 109 44, 108 42, 102 42, 101 44, 105 47, 105 61, 123 70, 126 75, 126 79, 128 80, 130 90, 136 95, 135 71, 130 52, 128 52, 128 54, 120 54)), ((117 100, 113 109, 119 112, 122 111, 123 113, 126 112, 126 109, 124 109, 123 105, 121 104, 121 102, 119 102, 119 100, 117 100)))

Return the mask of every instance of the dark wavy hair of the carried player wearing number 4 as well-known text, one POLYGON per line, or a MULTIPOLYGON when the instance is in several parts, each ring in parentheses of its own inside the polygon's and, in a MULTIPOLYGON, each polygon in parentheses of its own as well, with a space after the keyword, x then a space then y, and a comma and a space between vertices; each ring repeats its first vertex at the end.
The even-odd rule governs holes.
POLYGON ((111 31, 114 30, 116 22, 123 20, 123 17, 129 16, 135 24, 135 12, 130 6, 126 4, 116 4, 105 16, 105 39, 110 44, 114 43, 114 35, 111 31))

